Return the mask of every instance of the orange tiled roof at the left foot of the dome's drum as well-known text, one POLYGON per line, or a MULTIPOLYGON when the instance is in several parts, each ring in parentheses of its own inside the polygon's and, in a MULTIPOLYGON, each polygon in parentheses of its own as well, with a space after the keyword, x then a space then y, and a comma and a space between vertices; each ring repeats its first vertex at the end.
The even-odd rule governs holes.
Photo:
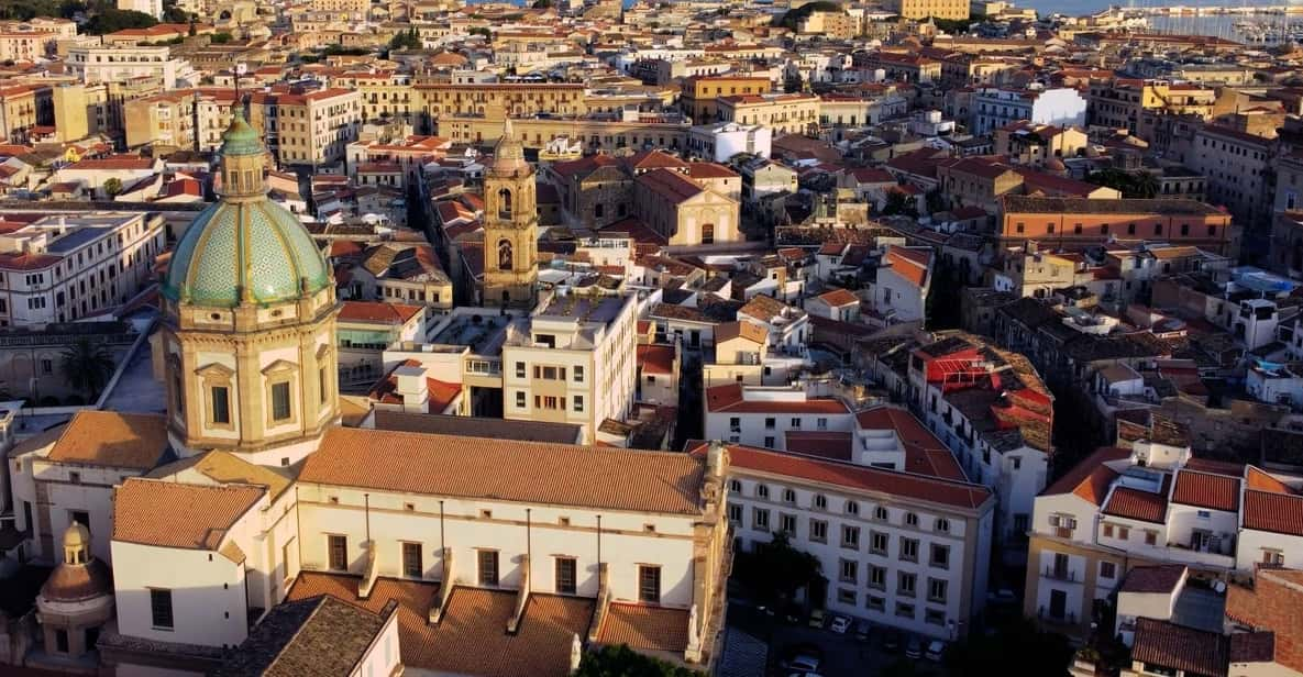
POLYGON ((51 461, 150 470, 168 448, 159 414, 77 411, 50 449, 51 461))

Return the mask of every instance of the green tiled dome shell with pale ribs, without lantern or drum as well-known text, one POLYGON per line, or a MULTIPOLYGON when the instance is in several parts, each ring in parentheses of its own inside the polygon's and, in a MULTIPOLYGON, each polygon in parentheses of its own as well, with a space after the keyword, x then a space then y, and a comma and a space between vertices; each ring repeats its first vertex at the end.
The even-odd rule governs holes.
POLYGON ((176 245, 163 294, 199 306, 232 307, 241 289, 255 303, 289 301, 331 284, 308 229, 266 198, 218 202, 176 245))

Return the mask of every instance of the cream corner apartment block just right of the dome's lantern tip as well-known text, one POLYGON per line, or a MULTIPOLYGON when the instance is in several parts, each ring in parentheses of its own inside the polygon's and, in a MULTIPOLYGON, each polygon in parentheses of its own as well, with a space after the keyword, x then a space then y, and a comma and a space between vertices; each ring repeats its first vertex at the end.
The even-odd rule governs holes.
POLYGON ((341 87, 261 91, 249 96, 249 113, 279 164, 335 165, 357 141, 362 95, 341 87))

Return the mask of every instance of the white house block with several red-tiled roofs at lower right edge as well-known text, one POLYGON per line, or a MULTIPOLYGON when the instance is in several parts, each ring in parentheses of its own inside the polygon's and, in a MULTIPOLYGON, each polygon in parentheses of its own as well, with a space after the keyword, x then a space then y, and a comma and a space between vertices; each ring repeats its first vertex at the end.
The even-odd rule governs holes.
POLYGON ((1177 440, 1104 448, 1036 499, 1024 615, 1075 637, 1135 566, 1225 579, 1303 559, 1299 478, 1194 458, 1177 440))

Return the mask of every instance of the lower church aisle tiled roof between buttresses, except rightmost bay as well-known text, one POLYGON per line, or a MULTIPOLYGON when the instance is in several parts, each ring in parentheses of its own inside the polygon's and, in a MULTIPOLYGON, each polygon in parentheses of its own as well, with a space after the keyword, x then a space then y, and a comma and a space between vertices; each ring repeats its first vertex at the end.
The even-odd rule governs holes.
POLYGON ((288 600, 315 595, 337 599, 379 613, 390 600, 399 603, 399 644, 409 668, 452 674, 500 677, 563 677, 569 673, 573 637, 588 635, 594 603, 584 598, 533 594, 520 631, 507 634, 516 592, 457 587, 438 625, 427 622, 438 583, 380 578, 370 596, 358 599, 358 578, 304 572, 288 600))

